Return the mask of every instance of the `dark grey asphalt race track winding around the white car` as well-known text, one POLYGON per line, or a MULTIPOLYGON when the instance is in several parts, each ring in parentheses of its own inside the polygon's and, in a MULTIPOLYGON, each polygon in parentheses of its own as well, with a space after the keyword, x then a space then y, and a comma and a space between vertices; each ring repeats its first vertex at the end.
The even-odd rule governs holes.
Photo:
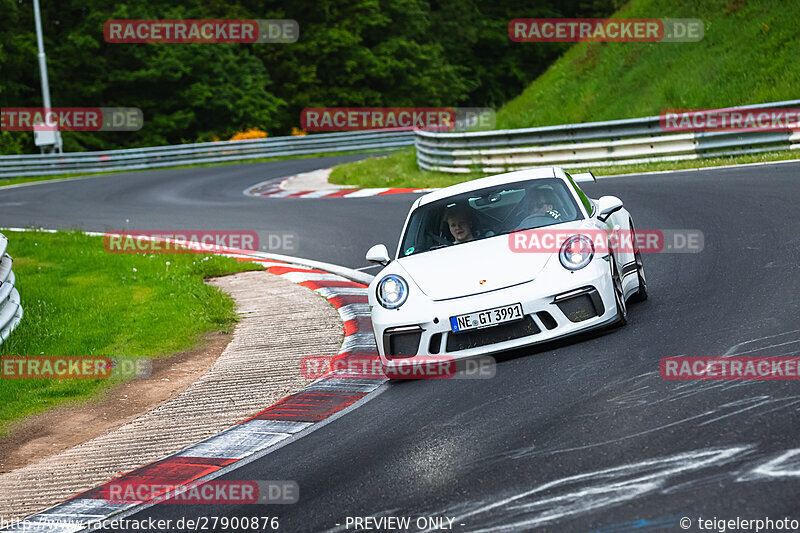
MULTIPOLYGON (((340 158, 341 159, 341 158, 340 158)), ((352 267, 394 248, 415 195, 246 198, 303 160, 164 170, 0 191, 0 225, 254 229, 352 267)), ((699 229, 697 254, 644 257, 650 299, 624 328, 498 359, 486 380, 392 383, 360 408, 222 479, 295 480, 283 506, 158 505, 130 519, 449 517, 454 531, 690 531, 800 519, 800 384, 664 381, 662 357, 800 355, 800 165, 601 180, 639 229, 699 229)), ((340 524, 337 526, 337 524, 340 524)), ((413 524, 413 521, 412 521, 413 524)), ((447 521, 445 520, 445 525, 447 521)), ((410 529, 416 531, 416 528, 410 529)), ((350 531, 353 531, 350 528, 350 531)))

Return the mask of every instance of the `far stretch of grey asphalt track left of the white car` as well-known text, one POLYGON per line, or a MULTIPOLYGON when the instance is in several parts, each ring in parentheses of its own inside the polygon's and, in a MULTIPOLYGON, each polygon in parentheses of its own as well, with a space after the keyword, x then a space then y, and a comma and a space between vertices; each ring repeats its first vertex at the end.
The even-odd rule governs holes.
POLYGON ((409 195, 402 195, 401 201, 379 196, 308 203, 248 197, 243 191, 270 178, 277 183, 281 177, 364 157, 143 171, 0 190, 0 227, 256 231, 265 246, 270 244, 269 234, 290 234, 293 247, 263 251, 363 266, 363 243, 388 240, 390 248, 395 246, 397 220, 404 220, 412 201, 409 195))

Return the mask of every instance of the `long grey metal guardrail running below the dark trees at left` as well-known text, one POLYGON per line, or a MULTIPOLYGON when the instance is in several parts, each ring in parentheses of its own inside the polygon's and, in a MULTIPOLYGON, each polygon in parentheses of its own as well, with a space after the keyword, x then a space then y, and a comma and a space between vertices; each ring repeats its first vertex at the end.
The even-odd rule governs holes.
POLYGON ((102 152, 9 155, 0 156, 0 178, 112 172, 351 150, 390 151, 412 144, 414 133, 411 131, 357 131, 102 152))

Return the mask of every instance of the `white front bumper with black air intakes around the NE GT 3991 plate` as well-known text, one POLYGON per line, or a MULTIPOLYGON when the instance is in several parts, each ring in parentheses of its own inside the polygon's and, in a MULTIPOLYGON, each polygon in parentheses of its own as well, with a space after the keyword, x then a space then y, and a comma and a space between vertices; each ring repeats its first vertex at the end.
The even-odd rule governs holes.
POLYGON ((575 272, 562 269, 472 296, 439 301, 418 296, 393 310, 373 305, 372 325, 381 363, 392 368, 415 355, 462 359, 551 341, 611 323, 616 314, 606 256, 575 272), (522 304, 523 320, 451 331, 452 316, 515 303, 522 304))

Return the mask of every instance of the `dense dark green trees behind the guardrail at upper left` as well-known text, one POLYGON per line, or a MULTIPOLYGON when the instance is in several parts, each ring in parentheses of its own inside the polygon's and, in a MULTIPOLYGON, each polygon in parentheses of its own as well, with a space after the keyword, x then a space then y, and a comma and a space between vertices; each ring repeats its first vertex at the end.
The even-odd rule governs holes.
MULTIPOLYGON (((603 16, 619 0, 42 0, 52 104, 139 107, 135 133, 63 134, 65 150, 287 135, 309 106, 489 106, 566 48, 508 38, 524 17, 603 16), (293 44, 109 44, 109 19, 295 19, 293 44)), ((41 106, 30 0, 0 0, 0 106, 41 106)), ((33 152, 0 132, 0 153, 33 152)))

